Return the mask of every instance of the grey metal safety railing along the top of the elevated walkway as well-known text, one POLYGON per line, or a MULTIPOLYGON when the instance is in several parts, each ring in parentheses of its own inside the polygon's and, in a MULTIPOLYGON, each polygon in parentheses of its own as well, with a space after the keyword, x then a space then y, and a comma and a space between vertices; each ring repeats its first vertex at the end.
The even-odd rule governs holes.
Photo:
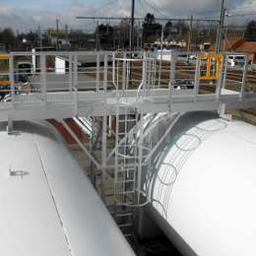
POLYGON ((2 102, 77 105, 96 93, 95 104, 115 94, 116 102, 138 107, 256 97, 256 74, 248 73, 244 53, 12 52, 2 61, 0 84, 1 77, 9 81, 0 85, 2 102))

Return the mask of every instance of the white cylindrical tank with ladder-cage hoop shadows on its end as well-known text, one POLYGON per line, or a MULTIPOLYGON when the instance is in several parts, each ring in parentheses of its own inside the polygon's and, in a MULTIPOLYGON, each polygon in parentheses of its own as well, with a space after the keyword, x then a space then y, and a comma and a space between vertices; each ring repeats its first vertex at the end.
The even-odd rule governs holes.
POLYGON ((152 213, 183 255, 256 255, 256 127, 189 113, 160 150, 152 213))

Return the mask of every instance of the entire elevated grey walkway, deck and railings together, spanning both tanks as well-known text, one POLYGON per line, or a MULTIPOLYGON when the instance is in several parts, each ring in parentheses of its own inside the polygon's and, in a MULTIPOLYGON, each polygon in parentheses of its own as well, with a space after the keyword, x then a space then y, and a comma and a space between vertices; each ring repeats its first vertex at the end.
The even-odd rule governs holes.
POLYGON ((216 55, 218 62, 210 63, 204 62, 201 53, 193 61, 189 54, 195 53, 187 53, 187 62, 179 60, 180 52, 168 54, 171 61, 161 60, 162 56, 149 57, 147 53, 137 59, 114 52, 10 53, 8 74, 12 85, 8 99, 0 102, 0 121, 115 115, 117 104, 127 105, 128 114, 135 110, 143 114, 256 105, 256 90, 246 88, 246 55, 234 81, 228 77, 229 70, 233 70, 227 63, 228 55, 222 56, 218 66, 220 55, 216 55), (91 66, 86 61, 78 62, 81 55, 84 60, 90 58, 91 66), (59 56, 65 59, 62 67, 53 61, 59 56), (21 58, 32 61, 32 70, 16 68, 21 58), (202 77, 205 72, 209 74, 202 77), (21 76, 27 77, 29 91, 23 90, 17 79, 21 76))

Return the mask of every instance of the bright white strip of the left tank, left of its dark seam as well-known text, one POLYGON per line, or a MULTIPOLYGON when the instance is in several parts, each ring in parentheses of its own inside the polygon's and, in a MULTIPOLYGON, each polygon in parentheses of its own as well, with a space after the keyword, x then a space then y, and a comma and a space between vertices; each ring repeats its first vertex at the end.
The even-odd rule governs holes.
POLYGON ((0 255, 71 256, 32 135, 2 131, 0 140, 0 255))

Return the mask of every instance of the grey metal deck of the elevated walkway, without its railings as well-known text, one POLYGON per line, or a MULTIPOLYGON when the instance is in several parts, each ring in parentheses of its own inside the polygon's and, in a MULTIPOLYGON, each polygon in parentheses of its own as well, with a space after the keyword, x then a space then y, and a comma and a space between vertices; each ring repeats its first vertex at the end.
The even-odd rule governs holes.
MULTIPOLYGON (((256 94, 224 94, 202 96, 168 96, 167 89, 156 89, 151 99, 138 98, 136 90, 78 93, 46 93, 45 95, 19 95, 11 102, 0 102, 0 121, 60 119, 75 116, 115 115, 117 103, 127 104, 128 112, 140 113, 187 112, 251 108, 256 106, 256 94), (116 94, 120 95, 119 102, 116 94)), ((120 114, 124 114, 120 112, 120 114)))

